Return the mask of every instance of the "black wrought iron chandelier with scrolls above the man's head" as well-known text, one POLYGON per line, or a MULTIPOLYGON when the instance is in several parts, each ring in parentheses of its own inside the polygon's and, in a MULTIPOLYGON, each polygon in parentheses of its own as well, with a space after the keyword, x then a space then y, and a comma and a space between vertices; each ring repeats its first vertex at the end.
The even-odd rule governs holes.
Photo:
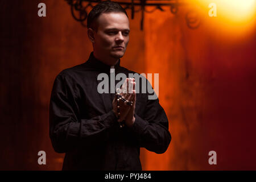
MULTIPOLYGON (((86 26, 85 20, 89 14, 89 8, 97 5, 102 0, 65 0, 71 6, 71 13, 75 20, 86 26)), ((106 0, 105 0, 106 1, 106 0)), ((176 14, 180 6, 188 5, 182 0, 112 0, 122 5, 125 10, 131 11, 131 19, 134 13, 141 11, 141 30, 143 30, 144 13, 152 13, 155 10, 164 11, 163 7, 170 7, 172 14, 176 14), (147 10, 147 7, 153 7, 147 10)), ((189 28, 195 29, 200 26, 200 19, 195 10, 189 10, 185 15, 185 20, 189 28)))

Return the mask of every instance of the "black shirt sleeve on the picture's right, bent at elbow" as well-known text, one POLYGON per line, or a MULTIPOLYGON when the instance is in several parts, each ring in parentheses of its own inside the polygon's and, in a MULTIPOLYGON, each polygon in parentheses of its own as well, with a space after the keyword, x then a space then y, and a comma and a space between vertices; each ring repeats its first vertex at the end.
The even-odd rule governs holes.
POLYGON ((158 98, 155 100, 147 98, 143 118, 135 114, 135 122, 130 130, 138 140, 140 147, 156 154, 163 154, 171 142, 168 125, 168 118, 158 98))

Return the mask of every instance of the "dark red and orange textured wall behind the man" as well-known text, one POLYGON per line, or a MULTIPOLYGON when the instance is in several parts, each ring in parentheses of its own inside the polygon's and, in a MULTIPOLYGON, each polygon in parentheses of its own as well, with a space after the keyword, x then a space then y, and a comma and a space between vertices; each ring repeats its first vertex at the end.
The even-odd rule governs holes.
MULTIPOLYGON (((172 134, 165 154, 142 148, 142 167, 255 170, 255 26, 238 34, 241 27, 224 30, 218 18, 204 17, 191 30, 184 13, 146 14, 144 31, 140 13, 130 21, 121 65, 159 73, 159 100, 172 134), (216 166, 208 164, 211 150, 216 166)), ((59 170, 64 155, 49 140, 49 97, 61 70, 88 59, 86 28, 60 0, 1 1, 0 19, 0 169, 59 170), (37 15, 40 2, 47 6, 45 18, 37 15), (40 150, 46 151, 46 165, 38 164, 40 150)))

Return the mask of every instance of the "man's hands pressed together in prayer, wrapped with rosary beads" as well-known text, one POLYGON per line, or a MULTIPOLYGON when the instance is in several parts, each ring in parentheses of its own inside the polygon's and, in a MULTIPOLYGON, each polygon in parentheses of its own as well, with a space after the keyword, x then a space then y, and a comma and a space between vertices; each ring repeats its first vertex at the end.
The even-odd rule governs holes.
MULTIPOLYGON (((133 102, 133 105, 127 105, 123 101, 119 101, 119 121, 122 122, 125 120, 125 124, 128 127, 133 126, 135 121, 134 112, 136 104, 136 91, 135 91, 135 79, 126 78, 126 81, 123 82, 121 89, 118 90, 120 96, 125 98, 129 102, 133 102)), ((117 109, 117 97, 114 97, 112 102, 113 111, 118 118, 118 109, 117 109)))

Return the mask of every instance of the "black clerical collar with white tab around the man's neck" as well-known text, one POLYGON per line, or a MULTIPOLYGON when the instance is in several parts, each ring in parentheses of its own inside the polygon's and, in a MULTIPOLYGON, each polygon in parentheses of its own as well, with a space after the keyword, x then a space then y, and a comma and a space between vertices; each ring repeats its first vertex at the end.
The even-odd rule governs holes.
POLYGON ((88 61, 86 61, 86 64, 98 71, 109 73, 112 69, 118 69, 120 67, 120 59, 118 60, 117 64, 115 64, 114 66, 110 66, 96 59, 96 57, 94 57, 93 55, 93 52, 91 52, 88 61))

